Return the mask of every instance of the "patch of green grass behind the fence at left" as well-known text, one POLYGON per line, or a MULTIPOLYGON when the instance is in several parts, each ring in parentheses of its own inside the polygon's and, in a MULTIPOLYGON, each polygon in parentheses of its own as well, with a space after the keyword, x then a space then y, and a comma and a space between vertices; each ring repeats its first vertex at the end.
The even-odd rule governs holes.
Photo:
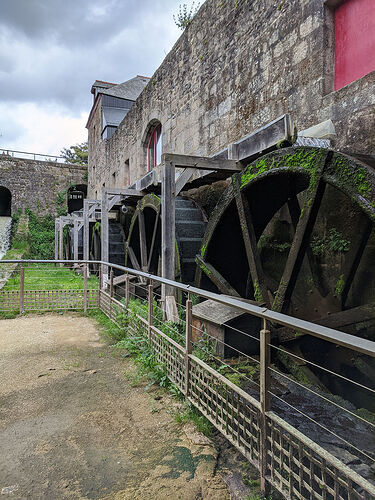
MULTIPOLYGON (((20 274, 9 278, 4 290, 18 290, 20 274)), ((83 289, 83 276, 67 267, 54 264, 39 264, 38 267, 25 267, 25 290, 79 290, 83 289)), ((98 288, 98 279, 90 276, 87 288, 98 288)))

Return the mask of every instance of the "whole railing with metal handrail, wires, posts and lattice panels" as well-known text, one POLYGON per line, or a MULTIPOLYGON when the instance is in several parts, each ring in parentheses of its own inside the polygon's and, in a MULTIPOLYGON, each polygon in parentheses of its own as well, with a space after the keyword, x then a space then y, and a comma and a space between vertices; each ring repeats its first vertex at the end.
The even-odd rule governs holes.
MULTIPOLYGON (((371 358, 375 357, 375 342, 108 262, 0 261, 0 271, 2 266, 13 266, 13 275, 0 291, 0 311, 99 308, 127 335, 145 336, 173 384, 259 470, 264 495, 273 486, 292 499, 375 498, 369 474, 375 465, 374 423, 332 395, 281 371, 279 353, 294 361, 301 357, 273 342, 270 331, 276 324, 287 326, 371 358), (74 288, 58 288, 59 272, 63 271, 51 264, 64 264, 63 270, 71 267, 75 271, 67 271, 74 275, 74 288), (43 287, 36 269, 45 280, 43 287), (103 276, 102 269, 108 269, 108 275, 103 276), (33 270, 36 278, 28 281, 33 270), (164 320, 160 285, 175 290, 178 317, 173 323, 164 320), (249 323, 258 321, 257 333, 232 327, 232 332, 243 336, 240 349, 230 337, 214 335, 196 321, 193 299, 209 299, 246 314, 249 323), (250 341, 257 346, 253 353, 246 352, 250 341), (236 357, 225 359, 218 354, 223 346, 236 357), (280 389, 284 379, 289 396, 280 389), (293 394, 297 395, 295 401, 293 394), (303 406, 303 401, 309 403, 308 410, 298 408, 297 403, 303 406), (314 405, 317 411, 311 411, 314 405), (346 423, 340 424, 344 416, 346 423), (353 457, 349 465, 337 450, 353 457)), ((356 389, 375 393, 360 381, 303 361, 345 379, 356 389)))

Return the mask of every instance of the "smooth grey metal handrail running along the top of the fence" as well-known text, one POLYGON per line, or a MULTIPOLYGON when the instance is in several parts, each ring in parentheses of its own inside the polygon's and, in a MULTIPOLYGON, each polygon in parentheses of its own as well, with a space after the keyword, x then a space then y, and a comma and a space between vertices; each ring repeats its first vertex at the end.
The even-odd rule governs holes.
POLYGON ((375 357, 375 342, 367 339, 361 339, 354 335, 341 332, 339 330, 334 330, 326 326, 317 325, 309 321, 294 318, 286 314, 277 313, 271 311, 266 307, 259 307, 253 304, 248 304, 242 302, 234 297, 229 297, 227 295, 220 295, 214 292, 209 292, 207 290, 202 290, 191 285, 185 285, 177 281, 169 280, 166 278, 161 278, 160 276, 155 276, 150 273, 145 273, 143 271, 137 271, 135 269, 130 269, 125 266, 120 266, 118 264, 113 264, 111 262, 105 262, 101 260, 1 260, 0 263, 4 264, 101 264, 103 266, 108 266, 113 269, 122 271, 124 274, 132 274, 142 278, 151 279, 154 282, 169 285, 183 292, 193 293, 203 297, 205 299, 215 300, 220 304, 234 307, 243 311, 244 313, 251 314, 252 316, 257 316, 264 320, 270 321, 272 323, 277 323, 289 328, 293 328, 302 332, 304 334, 313 335, 314 337, 321 338, 328 342, 331 342, 342 347, 353 349, 362 354, 367 354, 368 356, 375 357))

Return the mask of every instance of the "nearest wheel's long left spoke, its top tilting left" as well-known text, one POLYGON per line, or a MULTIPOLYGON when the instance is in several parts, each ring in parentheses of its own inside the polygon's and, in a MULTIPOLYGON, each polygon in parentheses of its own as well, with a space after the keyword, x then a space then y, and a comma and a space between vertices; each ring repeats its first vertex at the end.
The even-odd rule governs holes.
POLYGON ((263 273, 263 267, 258 252, 257 241, 255 237, 254 226, 251 218, 250 207, 247 198, 239 189, 236 190, 236 204, 242 237, 245 243, 247 261, 254 288, 254 298, 258 302, 263 301, 267 306, 270 305, 267 287, 263 273))

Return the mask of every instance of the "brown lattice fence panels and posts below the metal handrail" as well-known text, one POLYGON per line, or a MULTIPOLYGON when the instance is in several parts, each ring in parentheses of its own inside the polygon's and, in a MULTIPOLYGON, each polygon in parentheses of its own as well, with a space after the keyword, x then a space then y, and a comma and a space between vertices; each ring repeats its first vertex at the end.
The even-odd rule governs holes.
MULTIPOLYGON (((124 272, 134 273, 125 268, 124 272)), ((157 277, 152 277, 152 280, 162 281, 157 277)), ((176 283, 176 286, 182 288, 181 284, 176 283)), ((148 300, 147 297, 145 299, 148 302, 148 315, 147 318, 136 315, 136 333, 141 331, 149 339, 157 362, 164 367, 168 378, 186 399, 259 470, 264 494, 269 491, 269 486, 273 486, 289 499, 375 499, 375 486, 372 483, 270 411, 270 332, 264 318, 260 332, 260 401, 257 401, 192 354, 192 302, 189 290, 183 346, 154 325, 152 286, 148 287, 148 291, 148 300)), ((202 295, 214 296, 204 291, 202 295)), ((217 297, 219 302, 223 302, 222 296, 217 297)), ((112 286, 88 290, 86 279, 82 290, 23 291, 21 280, 21 290, 0 291, 1 311, 100 308, 112 321, 119 326, 126 325, 131 332, 133 326, 127 323, 128 304, 129 279, 126 280, 122 300, 114 297, 112 286)), ((246 306, 242 304, 239 307, 246 306)))

